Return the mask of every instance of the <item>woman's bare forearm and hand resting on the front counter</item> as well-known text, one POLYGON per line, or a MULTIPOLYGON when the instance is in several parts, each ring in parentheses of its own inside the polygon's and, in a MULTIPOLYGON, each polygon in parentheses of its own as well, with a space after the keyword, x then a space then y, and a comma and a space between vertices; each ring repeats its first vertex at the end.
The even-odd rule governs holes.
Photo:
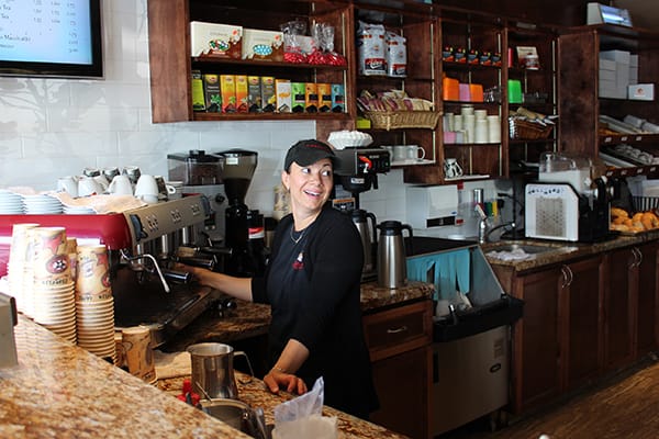
POLYGON ((264 376, 264 382, 272 393, 279 392, 283 386, 287 392, 299 395, 306 392, 304 380, 295 376, 295 372, 309 358, 309 349, 300 341, 290 339, 275 367, 264 376))

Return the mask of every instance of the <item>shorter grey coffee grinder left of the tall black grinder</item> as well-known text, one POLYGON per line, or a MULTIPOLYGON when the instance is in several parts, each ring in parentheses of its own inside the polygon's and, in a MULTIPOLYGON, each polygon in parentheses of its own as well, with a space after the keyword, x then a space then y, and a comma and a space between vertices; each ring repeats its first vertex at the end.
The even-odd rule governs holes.
POLYGON ((203 149, 191 149, 186 153, 167 155, 169 181, 182 181, 182 192, 201 194, 209 203, 209 216, 203 229, 197 230, 193 243, 203 246, 221 245, 224 240, 224 215, 222 205, 225 201, 222 189, 224 157, 206 154, 203 149))

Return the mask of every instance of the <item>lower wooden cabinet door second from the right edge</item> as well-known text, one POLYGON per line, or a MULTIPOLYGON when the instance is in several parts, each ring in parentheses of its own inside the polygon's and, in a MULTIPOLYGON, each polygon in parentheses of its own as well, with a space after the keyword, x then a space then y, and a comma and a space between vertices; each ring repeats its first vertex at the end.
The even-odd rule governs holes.
POLYGON ((622 248, 605 255, 604 367, 613 370, 634 360, 635 290, 637 255, 622 248))

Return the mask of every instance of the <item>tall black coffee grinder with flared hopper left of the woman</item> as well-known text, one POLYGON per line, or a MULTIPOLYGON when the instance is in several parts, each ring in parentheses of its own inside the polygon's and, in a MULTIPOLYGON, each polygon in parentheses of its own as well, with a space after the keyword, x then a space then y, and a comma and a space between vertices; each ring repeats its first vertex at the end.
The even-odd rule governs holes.
POLYGON ((248 249, 249 209, 245 204, 245 195, 252 183, 252 177, 258 162, 258 154, 244 149, 228 149, 215 153, 224 157, 222 181, 228 205, 224 211, 224 245, 231 249, 226 261, 226 273, 237 277, 256 274, 250 268, 252 256, 248 249))

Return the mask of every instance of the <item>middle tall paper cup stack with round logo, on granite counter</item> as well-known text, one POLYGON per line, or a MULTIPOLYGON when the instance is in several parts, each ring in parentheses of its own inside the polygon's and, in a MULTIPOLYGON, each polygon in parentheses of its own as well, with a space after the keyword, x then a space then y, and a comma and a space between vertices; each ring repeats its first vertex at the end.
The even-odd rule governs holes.
POLYGON ((27 228, 32 244, 32 289, 26 314, 34 322, 76 342, 75 283, 64 227, 27 228))

